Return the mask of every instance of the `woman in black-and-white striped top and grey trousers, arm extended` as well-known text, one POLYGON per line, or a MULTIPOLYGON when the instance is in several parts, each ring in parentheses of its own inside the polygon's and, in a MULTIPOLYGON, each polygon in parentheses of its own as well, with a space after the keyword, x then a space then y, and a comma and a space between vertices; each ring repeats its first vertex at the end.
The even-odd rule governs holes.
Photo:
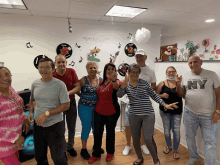
POLYGON ((143 163, 143 157, 140 148, 140 131, 143 127, 144 142, 153 157, 154 164, 160 164, 157 156, 157 146, 154 141, 154 124, 155 115, 149 96, 163 105, 166 109, 177 108, 175 104, 165 104, 164 101, 153 91, 151 85, 143 80, 139 79, 141 68, 137 64, 131 64, 128 69, 128 77, 121 83, 121 88, 117 92, 118 97, 123 97, 126 93, 129 98, 129 123, 131 128, 131 134, 133 138, 133 145, 138 156, 133 165, 140 165, 143 163))

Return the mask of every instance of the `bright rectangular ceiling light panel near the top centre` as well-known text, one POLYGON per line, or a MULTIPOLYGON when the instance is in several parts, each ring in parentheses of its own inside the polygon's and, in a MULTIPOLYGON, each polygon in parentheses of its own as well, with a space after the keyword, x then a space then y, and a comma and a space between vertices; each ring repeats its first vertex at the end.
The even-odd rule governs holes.
POLYGON ((144 12, 146 8, 113 6, 105 15, 114 17, 128 17, 133 18, 144 12))

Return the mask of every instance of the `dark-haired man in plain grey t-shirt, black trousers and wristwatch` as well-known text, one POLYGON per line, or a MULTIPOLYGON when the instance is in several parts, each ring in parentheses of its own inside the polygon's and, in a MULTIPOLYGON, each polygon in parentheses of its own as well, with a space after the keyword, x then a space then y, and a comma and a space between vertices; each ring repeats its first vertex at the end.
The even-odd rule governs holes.
POLYGON ((67 165, 64 150, 63 111, 70 107, 66 85, 53 78, 54 63, 49 58, 39 61, 38 70, 41 79, 37 79, 31 86, 30 114, 28 119, 34 122, 35 159, 38 165, 49 165, 47 147, 55 165, 67 165), (36 101, 36 106, 35 106, 36 101))

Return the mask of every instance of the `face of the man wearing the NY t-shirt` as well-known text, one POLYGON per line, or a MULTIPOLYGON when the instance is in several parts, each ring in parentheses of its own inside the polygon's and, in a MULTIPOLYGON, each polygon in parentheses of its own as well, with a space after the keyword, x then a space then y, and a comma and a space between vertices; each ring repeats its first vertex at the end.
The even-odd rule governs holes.
POLYGON ((188 65, 194 74, 199 74, 202 71, 202 60, 197 56, 191 56, 188 60, 188 65))

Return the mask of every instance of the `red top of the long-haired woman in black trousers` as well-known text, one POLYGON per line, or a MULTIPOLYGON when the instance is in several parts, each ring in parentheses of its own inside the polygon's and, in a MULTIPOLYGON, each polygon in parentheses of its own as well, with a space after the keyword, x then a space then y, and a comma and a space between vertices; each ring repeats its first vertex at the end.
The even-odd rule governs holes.
MULTIPOLYGON (((116 80, 119 84, 121 82, 116 80)), ((116 111, 113 105, 112 99, 113 93, 113 84, 112 82, 108 82, 107 84, 103 84, 99 86, 97 89, 97 94, 99 96, 99 100, 96 104, 95 111, 101 115, 109 116, 113 115, 116 111)))

